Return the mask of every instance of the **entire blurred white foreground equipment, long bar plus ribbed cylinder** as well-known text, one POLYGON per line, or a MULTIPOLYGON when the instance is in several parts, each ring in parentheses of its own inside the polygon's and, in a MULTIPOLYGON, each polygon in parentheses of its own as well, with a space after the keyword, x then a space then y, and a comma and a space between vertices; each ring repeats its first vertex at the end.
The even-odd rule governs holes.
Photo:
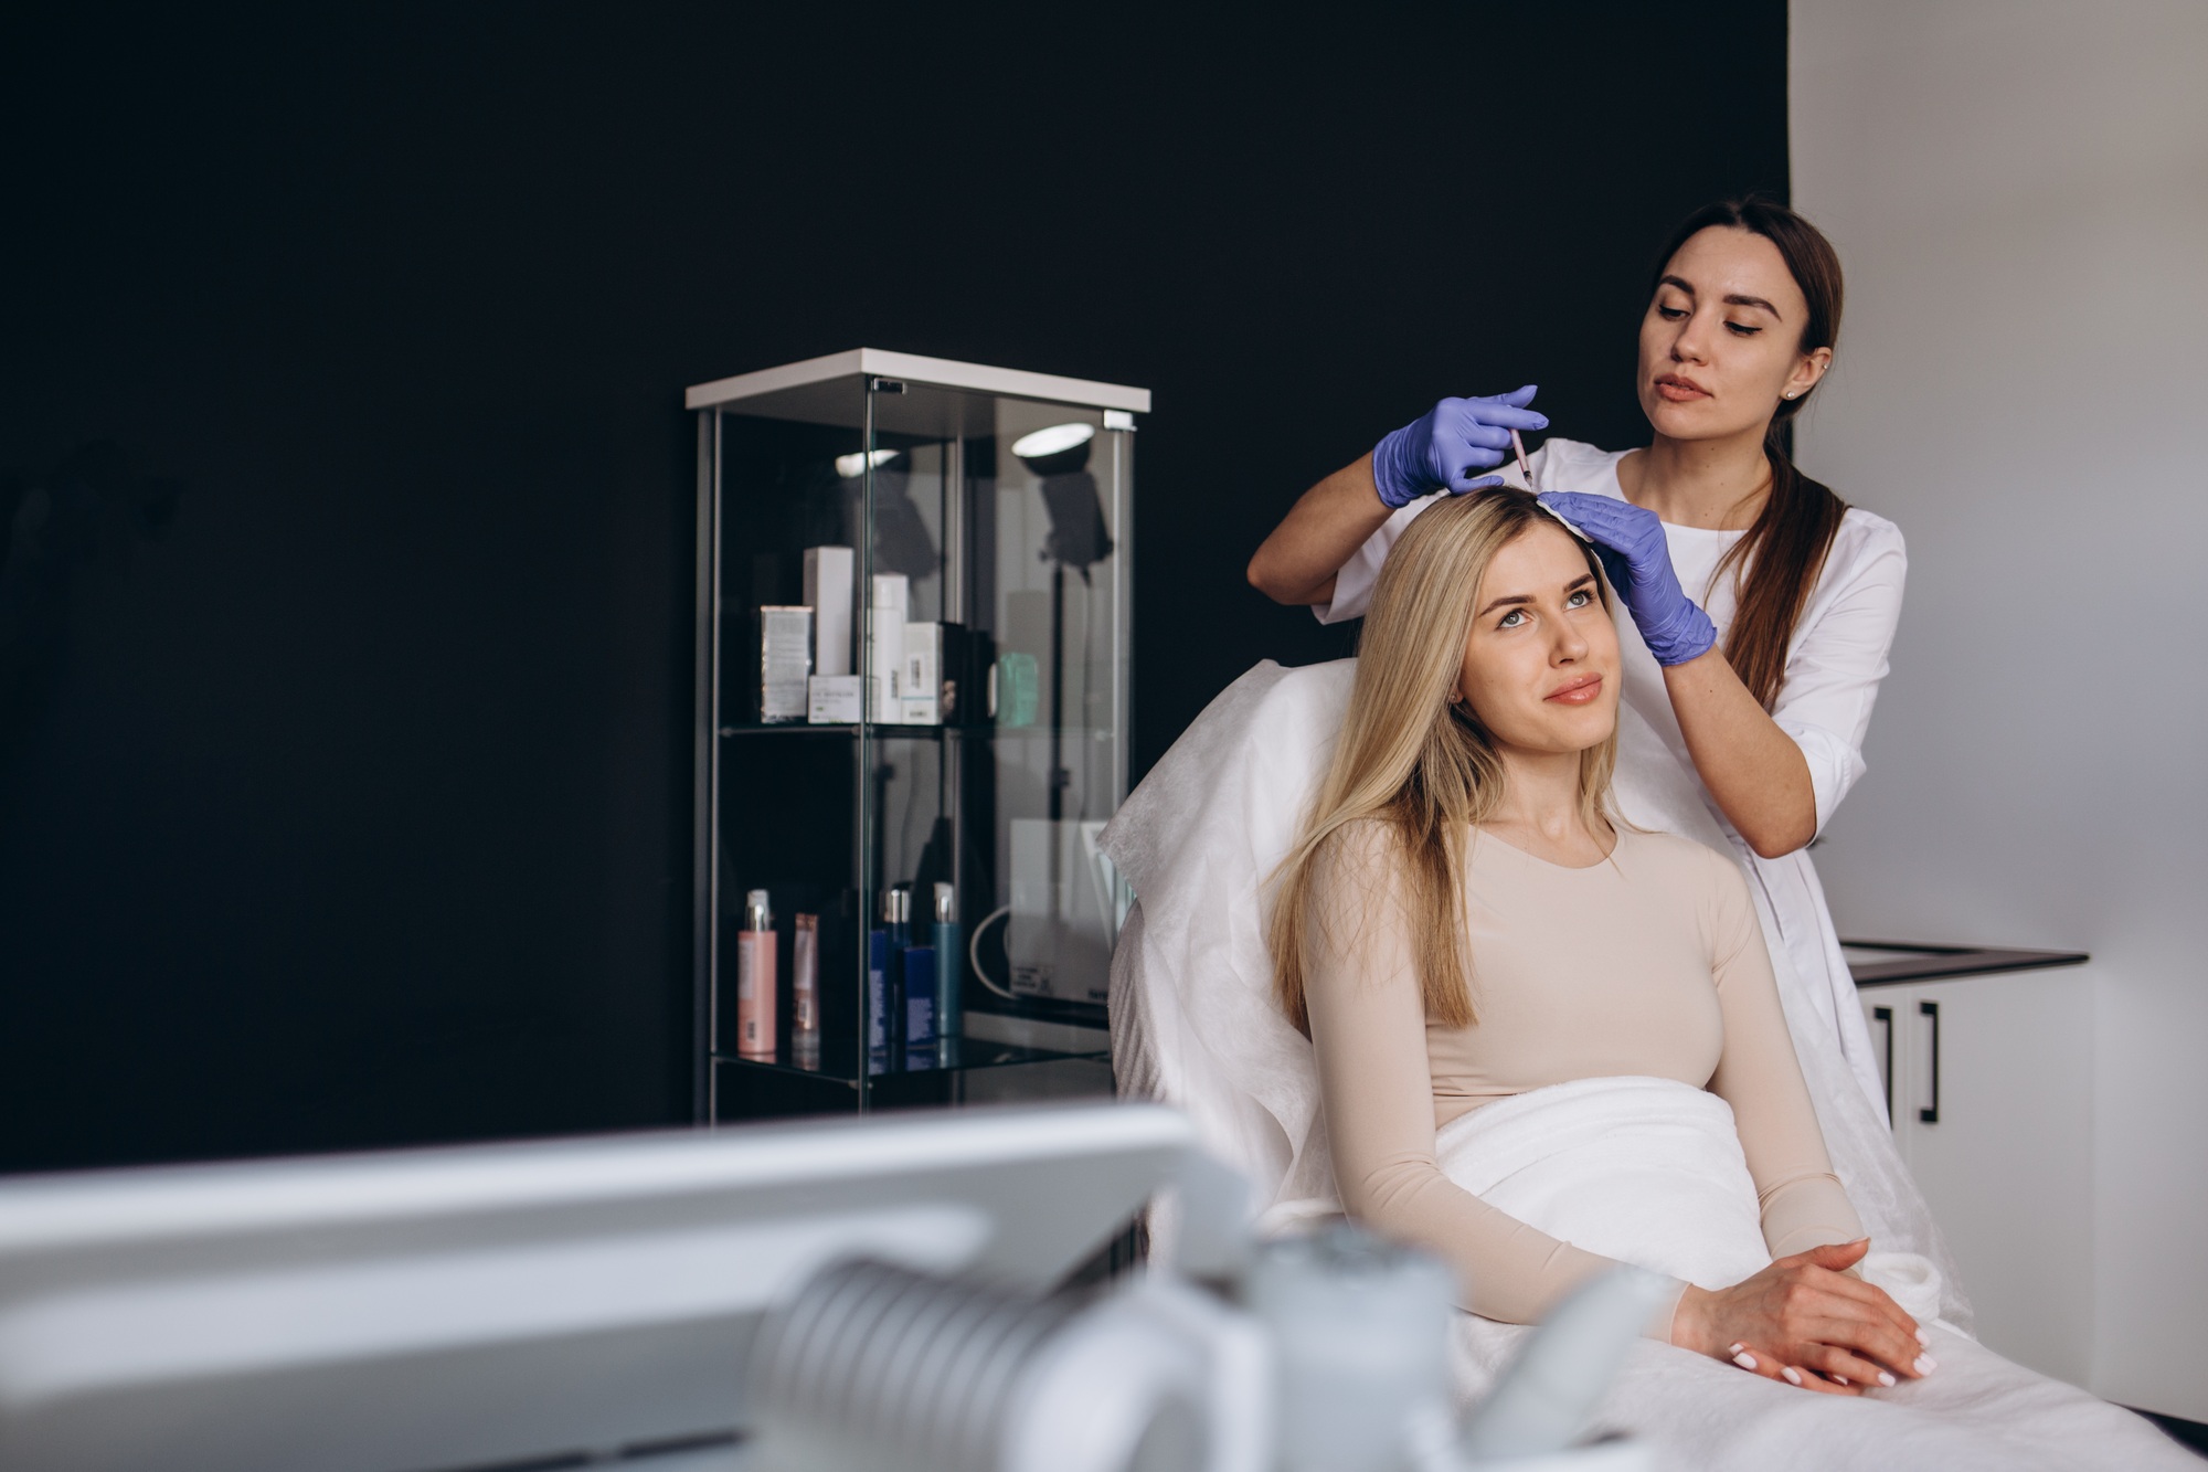
POLYGON ((1448 1275, 1347 1224, 1252 1264, 1245 1198, 1153 1105, 0 1182, 0 1465, 1647 1465, 1563 1450, 1647 1315, 1630 1275, 1459 1441, 1448 1275), (1190 1278, 1049 1293, 1159 1189, 1190 1278))

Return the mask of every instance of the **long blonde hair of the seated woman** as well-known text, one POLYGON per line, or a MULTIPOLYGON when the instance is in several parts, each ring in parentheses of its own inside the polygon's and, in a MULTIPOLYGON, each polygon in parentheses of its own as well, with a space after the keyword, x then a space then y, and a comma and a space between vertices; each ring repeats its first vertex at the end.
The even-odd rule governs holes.
MULTIPOLYGON (((1351 824, 1376 822, 1387 835, 1373 904, 1400 897, 1411 928, 1426 1019, 1473 1026, 1471 942, 1464 933, 1464 844, 1475 822, 1501 805, 1504 765, 1471 709, 1451 703, 1464 670, 1479 581, 1510 542, 1537 524, 1559 526, 1532 495, 1495 486, 1420 513, 1389 550, 1358 639, 1358 674, 1334 758, 1296 835, 1272 873, 1270 942, 1274 995, 1305 1034, 1305 977, 1320 955, 1342 955, 1349 937, 1323 935, 1314 904, 1323 866, 1356 864, 1351 824), (1325 950, 1320 950, 1325 948, 1325 950)), ((1594 553, 1581 544, 1601 586, 1594 553)), ((1610 590, 1603 588, 1610 610, 1610 590)), ((1618 736, 1579 756, 1579 807, 1601 831, 1616 767, 1618 736)))

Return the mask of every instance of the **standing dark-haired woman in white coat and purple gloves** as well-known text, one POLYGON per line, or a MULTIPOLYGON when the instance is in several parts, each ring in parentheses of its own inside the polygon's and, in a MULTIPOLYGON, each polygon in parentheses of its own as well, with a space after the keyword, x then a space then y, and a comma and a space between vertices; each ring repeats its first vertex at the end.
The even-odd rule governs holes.
MULTIPOLYGON (((1788 418, 1833 365, 1839 309, 1839 256, 1806 219, 1762 199, 1696 212, 1663 252, 1641 318, 1649 444, 1552 438, 1532 455, 1532 482, 1594 539, 1632 612, 1623 776, 1698 787, 1751 880, 1773 959, 1828 997, 1841 1052, 1883 1114, 1806 847, 1864 774, 1908 557, 1892 522, 1844 504, 1784 453, 1788 418)), ((1548 427, 1530 400, 1532 389, 1442 400, 1387 435, 1296 502, 1250 581, 1325 623, 1362 617, 1411 519, 1497 484, 1484 471, 1504 462, 1510 431, 1548 427)))

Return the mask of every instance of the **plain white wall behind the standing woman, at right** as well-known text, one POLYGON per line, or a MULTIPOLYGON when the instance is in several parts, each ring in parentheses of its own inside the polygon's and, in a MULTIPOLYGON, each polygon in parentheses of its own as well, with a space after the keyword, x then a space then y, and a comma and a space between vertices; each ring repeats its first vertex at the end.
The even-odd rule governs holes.
POLYGON ((2208 4, 1793 0, 1848 272, 1800 460, 1908 610, 1841 935, 2102 961, 2093 1388, 2208 1419, 2208 4))

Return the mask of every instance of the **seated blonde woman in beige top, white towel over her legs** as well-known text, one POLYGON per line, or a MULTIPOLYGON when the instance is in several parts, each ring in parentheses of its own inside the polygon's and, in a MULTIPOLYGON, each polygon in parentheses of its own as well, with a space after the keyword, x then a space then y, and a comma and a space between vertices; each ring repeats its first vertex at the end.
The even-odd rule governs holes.
MULTIPOLYGON (((1616 712, 1601 568, 1530 495, 1475 491, 1404 530, 1270 915, 1276 1001, 1312 1041, 1342 1207, 1448 1260, 1462 1306, 1486 1319, 1539 1319, 1634 1260, 1678 1282, 1647 1333, 1711 1375, 1892 1397, 1939 1421, 1879 1428, 1923 1448, 1961 1437, 1950 1450, 1994 1463, 2036 1465, 2007 1445, 2029 1432, 2062 1465, 2151 1465, 2164 1450, 2182 1465, 2129 1412, 1945 1328, 1936 1344, 1963 1373, 1941 1395, 1930 1328, 1848 1271, 1868 1240, 1744 877, 1607 811, 1616 712), (1709 1138, 1667 1165, 1678 1136, 1711 1129, 1731 1167, 1709 1165, 1709 1138), (1528 1194, 1543 1154, 1574 1152, 1579 1180, 1528 1194), (1508 1200, 1585 1231, 1565 1240, 1508 1200), (1744 1251, 1738 1233, 1716 1258, 1696 1240, 1740 1220, 1744 1251)), ((1674 1406, 1676 1375, 1665 1384, 1660 1417, 1707 1428, 1711 1406, 1674 1406)), ((1850 1465, 1833 1450, 1830 1465, 1850 1465)), ((1800 1465, 1813 1463, 1828 1465, 1800 1465)))

